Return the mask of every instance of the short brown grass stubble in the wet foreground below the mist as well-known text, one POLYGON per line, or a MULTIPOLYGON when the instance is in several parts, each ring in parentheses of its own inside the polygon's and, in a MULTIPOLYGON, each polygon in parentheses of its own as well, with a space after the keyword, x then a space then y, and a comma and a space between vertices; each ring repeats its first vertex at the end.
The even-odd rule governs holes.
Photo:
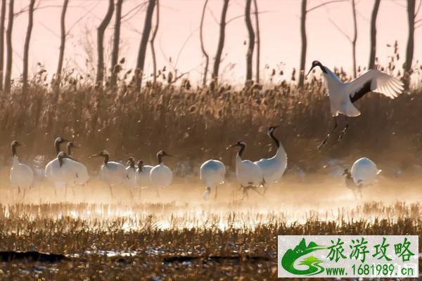
MULTIPOLYGON (((254 228, 236 226, 245 216, 234 211, 224 228, 160 228, 160 213, 177 214, 190 206, 142 204, 132 207, 87 204, 14 204, 0 209, 0 249, 65 254, 67 261, 0 263, 1 279, 45 280, 274 280, 276 235, 418 235, 421 204, 391 206, 369 202, 350 209, 372 221, 341 219, 286 223, 267 215, 254 228), (126 211, 122 215, 122 209, 126 211), (143 210, 151 211, 143 216, 143 210), (127 212, 129 210, 129 212, 127 212), (415 213, 416 210, 416 213, 415 213), (87 211, 93 214, 87 217, 87 211), (397 216, 392 216, 392 211, 397 216), (101 214, 101 216, 94 215, 101 214), (81 214, 78 216, 78 214, 81 214), (120 214, 120 215, 116 215, 120 214), (410 215, 411 214, 411 215, 410 215), (132 226, 132 227, 127 227, 132 226), (133 227, 134 226, 134 227, 133 227), (184 258, 181 259, 181 256, 184 258)), ((211 214, 203 214, 208 218, 211 214)), ((183 217, 183 216, 182 216, 183 217)), ((252 220, 259 216, 252 214, 252 220)), ((184 219, 189 219, 187 216, 184 219)), ((180 224, 178 225, 180 226, 180 224)), ((420 248, 422 244, 419 243, 420 248)))

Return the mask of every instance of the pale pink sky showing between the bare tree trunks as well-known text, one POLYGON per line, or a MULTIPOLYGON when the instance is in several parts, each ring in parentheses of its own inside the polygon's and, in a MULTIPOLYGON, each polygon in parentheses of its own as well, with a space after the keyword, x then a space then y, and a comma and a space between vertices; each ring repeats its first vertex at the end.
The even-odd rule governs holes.
MULTIPOLYGON (((139 4, 141 1, 124 1, 123 14, 139 4)), ((309 8, 321 4, 322 0, 309 0, 309 8)), ((16 0, 15 11, 27 6, 29 0, 16 0)), ((37 69, 37 62, 46 65, 49 72, 55 72, 58 59, 58 46, 60 45, 60 6, 61 0, 42 0, 42 8, 34 13, 34 28, 30 46, 30 71, 37 69)), ((227 19, 241 15, 244 10, 244 0, 231 0, 227 19)), ((89 58, 87 48, 94 51, 96 44, 96 27, 106 13, 108 1, 105 0, 70 0, 66 25, 68 28, 86 14, 75 27, 73 27, 67 41, 65 51, 65 65, 79 66, 85 71, 85 60, 89 58), (89 12, 93 7, 94 10, 89 12), (85 32, 89 30, 90 32, 85 32)), ((290 70, 298 67, 300 60, 300 1, 299 0, 258 0, 260 11, 267 11, 260 15, 261 28, 261 67, 267 64, 272 67, 282 67, 290 77, 290 70), (283 64, 283 65, 282 65, 283 64)), ((357 0, 357 63, 366 66, 369 59, 369 25, 373 1, 357 0)), ((218 40, 218 24, 222 8, 222 0, 210 0, 205 16, 205 48, 213 58, 218 40), (213 16, 214 15, 214 16, 213 16)), ((189 78, 194 82, 200 79, 203 57, 200 52, 199 23, 203 8, 202 0, 160 0, 160 30, 156 39, 158 66, 167 65, 169 58, 176 63, 180 72, 190 72, 189 78), (177 57, 179 59, 177 60, 177 57)), ((145 9, 143 8, 133 18, 122 25, 122 46, 120 57, 125 57, 127 69, 134 67, 136 52, 143 27, 145 9)), ((312 60, 321 60, 324 65, 333 67, 343 66, 351 70, 351 45, 330 22, 333 20, 342 30, 352 36, 352 11, 350 1, 335 3, 312 11, 307 17, 308 53, 307 65, 312 60)), ((422 18, 421 15, 418 18, 422 18)), ((113 35, 112 20, 106 34, 105 45, 109 45, 113 35)), ((13 30, 13 76, 22 70, 23 42, 27 25, 27 13, 15 18, 13 30)), ((407 42, 407 11, 405 0, 383 0, 378 13, 378 46, 377 55, 381 62, 387 60, 391 49, 386 44, 399 41, 399 53, 404 58, 407 42)), ((422 27, 415 32, 414 63, 421 58, 422 27)), ((243 81, 245 77, 245 51, 243 41, 248 40, 248 34, 243 18, 230 22, 226 28, 226 45, 223 55, 222 71, 224 79, 243 81), (231 70, 229 63, 236 64, 231 70), (224 70, 225 69, 225 70, 224 70)), ((106 51, 107 52, 107 51, 106 51)), ((108 59, 108 57, 106 57, 108 59)), ((255 59, 254 59, 255 63, 255 59)), ((255 70, 255 68, 254 68, 255 70)), ((148 48, 146 71, 151 72, 151 53, 148 48)), ((269 72, 262 72, 268 77, 269 72), (267 73, 267 75, 265 74, 267 73)))

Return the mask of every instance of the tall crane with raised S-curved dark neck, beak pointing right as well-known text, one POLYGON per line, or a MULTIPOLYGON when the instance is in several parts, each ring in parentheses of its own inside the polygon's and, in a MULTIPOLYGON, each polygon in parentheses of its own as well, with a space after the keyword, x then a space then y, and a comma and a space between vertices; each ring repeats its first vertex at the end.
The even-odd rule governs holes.
POLYGON ((283 145, 281 144, 279 139, 274 136, 274 131, 278 127, 279 126, 270 126, 267 131, 268 136, 274 141, 274 143, 276 143, 276 155, 271 158, 260 159, 260 161, 255 162, 255 164, 260 166, 262 174, 264 176, 264 192, 265 190, 267 190, 268 185, 280 181, 280 178, 283 176, 284 171, 286 171, 287 167, 286 150, 284 150, 283 145))

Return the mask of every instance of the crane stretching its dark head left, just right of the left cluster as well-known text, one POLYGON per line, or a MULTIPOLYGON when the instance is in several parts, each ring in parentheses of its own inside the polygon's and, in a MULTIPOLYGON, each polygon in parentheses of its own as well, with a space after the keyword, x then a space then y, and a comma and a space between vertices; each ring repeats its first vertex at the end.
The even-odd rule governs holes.
POLYGON ((108 183, 110 188, 110 195, 113 197, 112 185, 124 184, 127 181, 126 167, 119 162, 110 162, 110 154, 103 150, 95 155, 89 156, 92 157, 103 157, 104 162, 101 165, 100 170, 100 179, 108 183))

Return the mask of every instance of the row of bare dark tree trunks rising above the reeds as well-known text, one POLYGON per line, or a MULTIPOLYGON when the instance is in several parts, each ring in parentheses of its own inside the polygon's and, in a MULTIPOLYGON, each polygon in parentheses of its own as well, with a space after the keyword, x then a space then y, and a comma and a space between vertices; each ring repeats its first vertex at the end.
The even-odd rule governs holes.
MULTIPOLYGON (((28 91, 29 88, 29 80, 28 80, 28 61, 30 56, 30 41, 32 35, 32 27, 34 25, 34 12, 37 9, 41 8, 41 0, 29 0, 29 4, 27 7, 23 8, 20 11, 15 12, 14 0, 0 0, 1 1, 1 11, 0 11, 0 91, 4 93, 11 92, 12 86, 12 63, 13 63, 13 46, 12 46, 12 34, 13 34, 13 19, 22 13, 27 13, 28 15, 28 23, 27 23, 27 30, 25 34, 25 41, 24 41, 24 50, 23 50, 23 72, 21 76, 21 84, 22 84, 22 91, 25 93, 28 91), (7 26, 6 26, 6 14, 8 15, 7 26), (6 29, 6 30, 5 30, 6 29), (5 37, 6 37, 6 44, 5 44, 5 37), (5 48, 6 46, 6 48, 5 48), (6 53, 6 68, 4 68, 5 62, 4 57, 6 53)), ((57 70, 56 74, 53 77, 54 83, 53 86, 58 89, 60 87, 60 81, 62 79, 63 74, 63 60, 65 58, 65 46, 66 46, 66 39, 68 38, 70 30, 66 30, 65 26, 65 18, 68 13, 68 5, 69 2, 72 0, 63 0, 63 6, 61 8, 61 15, 60 15, 60 48, 58 51, 58 63, 57 63, 57 70)), ((106 0, 105 0, 106 1, 106 0)), ((95 83, 96 86, 103 86, 104 84, 108 86, 116 86, 118 83, 118 74, 122 70, 122 66, 120 63, 120 33, 122 29, 122 9, 124 6, 124 0, 107 0, 108 1, 108 8, 106 13, 103 15, 103 18, 96 27, 96 76, 95 76, 95 83), (104 58, 104 34, 107 28, 112 24, 111 21, 114 16, 114 25, 113 25, 113 44, 111 50, 111 60, 110 63, 106 63, 104 58), (107 65, 110 65, 110 68, 107 69, 107 65)), ((342 30, 340 27, 335 25, 335 22, 332 22, 336 28, 342 31, 343 35, 347 37, 350 41, 352 46, 352 65, 353 65, 353 72, 352 77, 356 77, 357 75, 357 63, 356 63, 356 46, 357 46, 357 11, 356 11, 356 1, 355 0, 331 0, 331 1, 324 1, 320 4, 316 4, 314 6, 309 6, 308 0, 301 0, 300 6, 300 38, 301 38, 301 51, 300 51, 300 66, 298 67, 298 86, 304 86, 304 73, 305 73, 305 62, 306 62, 306 55, 307 55, 307 15, 312 13, 312 11, 316 11, 317 9, 339 3, 339 2, 349 2, 350 3, 350 11, 352 13, 352 26, 353 26, 353 35, 349 36, 342 30)), ((151 48, 151 59, 153 62, 153 73, 151 77, 153 79, 153 83, 157 81, 158 75, 161 73, 158 70, 156 58, 155 58, 155 37, 158 32, 158 28, 160 25, 160 1, 159 0, 147 0, 139 2, 139 6, 145 6, 146 11, 144 13, 144 22, 143 22, 143 30, 141 37, 139 38, 139 51, 137 53, 136 59, 136 69, 132 73, 132 82, 136 85, 136 89, 141 89, 141 85, 143 79, 146 77, 145 73, 145 61, 146 61, 146 53, 148 49, 148 43, 151 48)), ((244 14, 235 18, 228 19, 227 14, 230 8, 231 1, 230 0, 222 0, 222 9, 219 19, 219 36, 217 41, 217 50, 215 50, 215 55, 213 55, 213 63, 212 69, 210 70, 210 53, 207 51, 207 48, 203 41, 203 22, 205 18, 205 12, 207 11, 207 4, 208 0, 204 1, 202 16, 200 18, 200 47, 203 53, 203 57, 205 58, 205 64, 203 67, 202 75, 202 86, 207 86, 210 83, 217 84, 220 78, 220 65, 222 63, 222 54, 224 50, 224 42, 226 37, 226 25, 229 24, 232 20, 236 20, 237 18, 243 18, 245 21, 245 29, 248 30, 248 48, 245 53, 245 60, 246 60, 246 69, 245 69, 245 79, 246 82, 248 81, 255 81, 256 83, 260 83, 260 11, 258 7, 257 0, 244 0, 245 5, 244 14), (252 17, 253 16, 253 17, 252 17), (255 68, 254 68, 254 55, 255 57, 255 68), (255 75, 254 75, 255 69, 255 75), (208 74, 211 74, 211 79, 208 79, 208 74)), ((422 1, 416 0, 407 0, 405 2, 407 6, 407 16, 408 16, 408 25, 409 25, 409 34, 407 40, 407 48, 406 48, 406 58, 405 63, 402 66, 402 79, 409 85, 409 77, 412 73, 412 63, 414 60, 414 32, 416 28, 422 25, 422 19, 417 19, 418 12, 420 11, 422 1), (417 3, 416 3, 417 2, 417 3)), ((282 3, 281 3, 282 5, 282 3)), ((382 5, 381 0, 374 0, 373 1, 373 10, 371 13, 371 25, 369 29, 370 34, 370 49, 369 49, 369 63, 367 68, 374 68, 378 67, 377 65, 377 57, 376 57, 376 20, 378 17, 378 11, 380 6, 382 5)), ((200 12, 200 11, 198 11, 200 12)), ((295 70, 294 70, 295 72, 295 70)), ((185 73, 177 74, 177 73, 170 73, 167 76, 167 81, 170 80, 171 82, 175 82, 179 80, 181 77, 184 76, 185 73)))

